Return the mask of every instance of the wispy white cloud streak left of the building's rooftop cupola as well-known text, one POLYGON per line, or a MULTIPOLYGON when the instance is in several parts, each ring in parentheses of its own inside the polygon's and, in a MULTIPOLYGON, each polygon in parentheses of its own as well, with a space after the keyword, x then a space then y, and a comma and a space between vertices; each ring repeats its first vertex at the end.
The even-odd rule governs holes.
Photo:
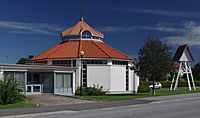
POLYGON ((10 33, 58 35, 62 27, 47 23, 23 23, 13 21, 0 21, 1 29, 8 29, 10 33))

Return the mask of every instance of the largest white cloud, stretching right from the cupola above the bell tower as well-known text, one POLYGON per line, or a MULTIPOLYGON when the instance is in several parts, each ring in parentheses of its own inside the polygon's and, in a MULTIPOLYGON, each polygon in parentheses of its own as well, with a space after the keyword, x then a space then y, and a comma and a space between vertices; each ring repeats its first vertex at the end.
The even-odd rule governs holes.
POLYGON ((98 29, 103 32, 109 32, 109 33, 151 30, 171 35, 168 37, 161 38, 165 43, 171 45, 180 45, 186 43, 191 46, 200 45, 200 23, 194 21, 184 21, 179 24, 158 23, 150 26, 130 26, 130 27, 102 26, 98 29))

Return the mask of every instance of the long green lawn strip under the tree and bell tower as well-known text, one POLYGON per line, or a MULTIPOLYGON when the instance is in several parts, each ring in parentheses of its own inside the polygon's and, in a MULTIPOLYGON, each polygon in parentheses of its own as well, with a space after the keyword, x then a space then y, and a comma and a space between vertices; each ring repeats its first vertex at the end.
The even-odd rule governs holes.
MULTIPOLYGON (((200 92, 200 88, 196 91, 189 91, 187 88, 179 88, 176 91, 169 91, 169 89, 156 90, 156 96, 167 96, 167 95, 177 95, 186 93, 196 93, 200 92)), ((115 100, 128 100, 135 98, 144 98, 152 96, 151 92, 148 93, 138 93, 138 94, 118 94, 118 95, 103 95, 103 96, 83 96, 83 99, 87 100, 101 100, 101 101, 115 101, 115 100)))

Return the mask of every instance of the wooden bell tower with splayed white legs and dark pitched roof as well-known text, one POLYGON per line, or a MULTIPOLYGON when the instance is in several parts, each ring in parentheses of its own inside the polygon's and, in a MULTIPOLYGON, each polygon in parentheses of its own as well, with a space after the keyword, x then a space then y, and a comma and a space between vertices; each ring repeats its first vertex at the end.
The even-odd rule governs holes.
POLYGON ((183 76, 184 74, 186 74, 187 76, 189 90, 192 90, 190 81, 192 81, 192 86, 194 90, 196 90, 194 78, 192 75, 192 69, 189 64, 189 62, 194 61, 194 57, 192 56, 192 53, 190 52, 187 44, 178 47, 173 57, 173 61, 179 63, 179 68, 173 76, 170 90, 176 90, 178 86, 179 77, 183 76))

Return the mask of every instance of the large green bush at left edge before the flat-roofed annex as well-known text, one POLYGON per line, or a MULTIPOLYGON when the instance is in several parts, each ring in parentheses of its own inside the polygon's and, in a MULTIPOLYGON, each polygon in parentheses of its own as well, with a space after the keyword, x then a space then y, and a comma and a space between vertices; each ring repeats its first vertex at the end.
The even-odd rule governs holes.
POLYGON ((20 83, 13 78, 0 80, 0 104, 13 104, 23 100, 20 83))

